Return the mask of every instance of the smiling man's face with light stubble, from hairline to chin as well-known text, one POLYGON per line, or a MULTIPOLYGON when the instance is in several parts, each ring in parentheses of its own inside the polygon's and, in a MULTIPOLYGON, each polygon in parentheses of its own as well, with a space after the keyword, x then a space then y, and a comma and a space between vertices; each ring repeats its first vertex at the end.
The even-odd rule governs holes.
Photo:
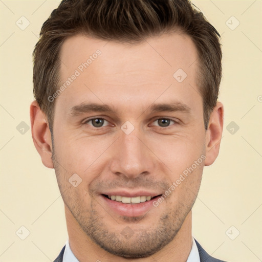
POLYGON ((104 250, 148 257, 174 239, 200 187, 197 50, 178 33, 136 45, 77 35, 60 58, 52 152, 68 216, 104 250))

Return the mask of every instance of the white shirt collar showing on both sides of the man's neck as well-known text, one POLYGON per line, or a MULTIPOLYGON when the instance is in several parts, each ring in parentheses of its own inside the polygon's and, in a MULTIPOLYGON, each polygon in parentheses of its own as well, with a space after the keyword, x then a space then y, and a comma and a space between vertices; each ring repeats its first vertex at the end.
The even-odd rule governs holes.
MULTIPOLYGON (((79 260, 75 257, 75 255, 73 254, 69 246, 69 239, 65 243, 65 249, 63 253, 63 262, 79 262, 79 260)), ((186 262, 200 262, 199 250, 198 250, 197 244, 195 243, 193 237, 192 237, 192 248, 191 248, 191 251, 189 253, 189 256, 186 262)))

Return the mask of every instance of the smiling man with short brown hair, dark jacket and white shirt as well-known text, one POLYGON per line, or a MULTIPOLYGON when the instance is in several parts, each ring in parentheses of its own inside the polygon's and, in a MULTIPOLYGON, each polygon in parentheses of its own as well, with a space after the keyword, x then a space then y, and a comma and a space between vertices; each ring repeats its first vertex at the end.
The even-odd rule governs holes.
POLYGON ((55 261, 222 261, 191 231, 223 130, 219 38, 186 0, 67 0, 43 24, 30 116, 64 201, 55 261))

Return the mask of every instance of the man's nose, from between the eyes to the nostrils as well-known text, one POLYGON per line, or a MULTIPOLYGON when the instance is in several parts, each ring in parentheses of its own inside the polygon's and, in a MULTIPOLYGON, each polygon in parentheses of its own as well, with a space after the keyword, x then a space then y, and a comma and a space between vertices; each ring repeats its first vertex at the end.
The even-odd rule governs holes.
POLYGON ((120 130, 120 137, 115 143, 110 163, 111 171, 128 179, 152 173, 156 162, 148 144, 148 139, 145 139, 138 128, 129 135, 120 130))

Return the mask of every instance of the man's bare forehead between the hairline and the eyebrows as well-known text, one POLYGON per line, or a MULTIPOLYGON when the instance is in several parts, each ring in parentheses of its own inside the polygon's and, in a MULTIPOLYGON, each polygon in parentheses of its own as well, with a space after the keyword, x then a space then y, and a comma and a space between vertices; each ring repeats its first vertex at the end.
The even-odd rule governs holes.
POLYGON ((135 45, 75 35, 64 41, 60 54, 60 84, 77 72, 57 98, 64 108, 91 97, 115 105, 116 101, 153 102, 170 85, 172 90, 165 92, 166 97, 176 91, 198 95, 197 50, 182 33, 146 38, 135 45), (180 82, 177 76, 186 78, 180 82))

